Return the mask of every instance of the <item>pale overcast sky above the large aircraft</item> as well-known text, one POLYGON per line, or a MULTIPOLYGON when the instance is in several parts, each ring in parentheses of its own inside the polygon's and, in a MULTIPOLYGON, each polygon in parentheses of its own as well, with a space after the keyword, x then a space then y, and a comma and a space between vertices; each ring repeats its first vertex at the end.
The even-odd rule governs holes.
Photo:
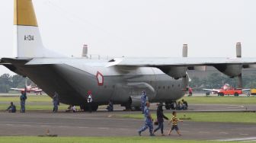
MULTIPOLYGON (((12 57, 13 1, 0 5, 0 57, 12 57)), ((254 0, 34 0, 44 46, 81 56, 255 56, 254 0)), ((0 67, 0 74, 11 73, 0 67)))

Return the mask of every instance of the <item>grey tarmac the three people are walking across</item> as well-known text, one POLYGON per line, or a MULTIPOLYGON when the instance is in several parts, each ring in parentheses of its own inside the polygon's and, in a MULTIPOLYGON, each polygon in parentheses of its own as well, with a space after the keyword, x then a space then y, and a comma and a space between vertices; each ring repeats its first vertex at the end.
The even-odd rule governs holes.
MULTIPOLYGON (((137 130, 143 125, 142 119, 109 117, 123 113, 0 113, 0 135, 46 135, 46 130, 59 136, 138 135, 137 130)), ((184 121, 179 126, 181 137, 174 132, 166 138, 226 140, 256 137, 256 124, 184 121)), ((169 128, 165 122, 165 133, 169 128)), ((148 136, 149 132, 142 135, 148 136)), ((156 135, 160 135, 160 132, 156 132, 156 135)))

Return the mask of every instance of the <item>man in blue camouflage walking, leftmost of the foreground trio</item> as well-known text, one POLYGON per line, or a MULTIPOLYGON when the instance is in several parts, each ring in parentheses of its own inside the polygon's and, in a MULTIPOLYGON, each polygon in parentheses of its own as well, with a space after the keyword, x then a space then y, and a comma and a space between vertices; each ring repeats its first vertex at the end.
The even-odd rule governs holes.
POLYGON ((145 125, 139 130, 139 136, 141 136, 141 133, 146 131, 146 129, 149 128, 149 133, 150 133, 150 136, 155 136, 153 134, 153 119, 152 119, 152 116, 151 116, 151 113, 149 111, 149 106, 150 106, 150 103, 149 102, 146 102, 146 107, 145 107, 145 110, 144 110, 144 116, 145 116, 145 125))

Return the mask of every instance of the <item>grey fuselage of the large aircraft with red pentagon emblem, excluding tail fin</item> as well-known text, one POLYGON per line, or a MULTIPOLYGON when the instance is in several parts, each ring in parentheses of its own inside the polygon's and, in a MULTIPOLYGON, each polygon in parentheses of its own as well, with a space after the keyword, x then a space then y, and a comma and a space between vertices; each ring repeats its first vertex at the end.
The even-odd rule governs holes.
MULTIPOLYGON (((175 80, 158 68, 107 66, 109 64, 104 60, 66 59, 61 64, 22 64, 16 68, 50 97, 56 91, 60 102, 66 104, 85 104, 88 91, 98 105, 107 104, 109 100, 130 103, 139 99, 142 91, 146 91, 150 102, 171 102, 184 96, 187 78, 175 80)), ((136 102, 138 106, 138 100, 136 102)))

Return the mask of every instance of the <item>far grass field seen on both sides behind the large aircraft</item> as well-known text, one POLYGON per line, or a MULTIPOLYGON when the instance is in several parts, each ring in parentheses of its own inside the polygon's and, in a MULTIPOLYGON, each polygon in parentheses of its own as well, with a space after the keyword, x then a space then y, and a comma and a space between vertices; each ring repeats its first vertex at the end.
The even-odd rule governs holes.
MULTIPOLYGON (((184 100, 196 104, 256 104, 256 97, 184 97, 184 100)), ((14 102, 20 109, 20 98, 18 96, 0 97, 0 110, 6 110, 10 102, 14 102)), ((66 110, 68 105, 61 104, 59 110, 66 110)), ((26 101, 27 110, 52 110, 52 99, 46 95, 29 94, 26 101)))

